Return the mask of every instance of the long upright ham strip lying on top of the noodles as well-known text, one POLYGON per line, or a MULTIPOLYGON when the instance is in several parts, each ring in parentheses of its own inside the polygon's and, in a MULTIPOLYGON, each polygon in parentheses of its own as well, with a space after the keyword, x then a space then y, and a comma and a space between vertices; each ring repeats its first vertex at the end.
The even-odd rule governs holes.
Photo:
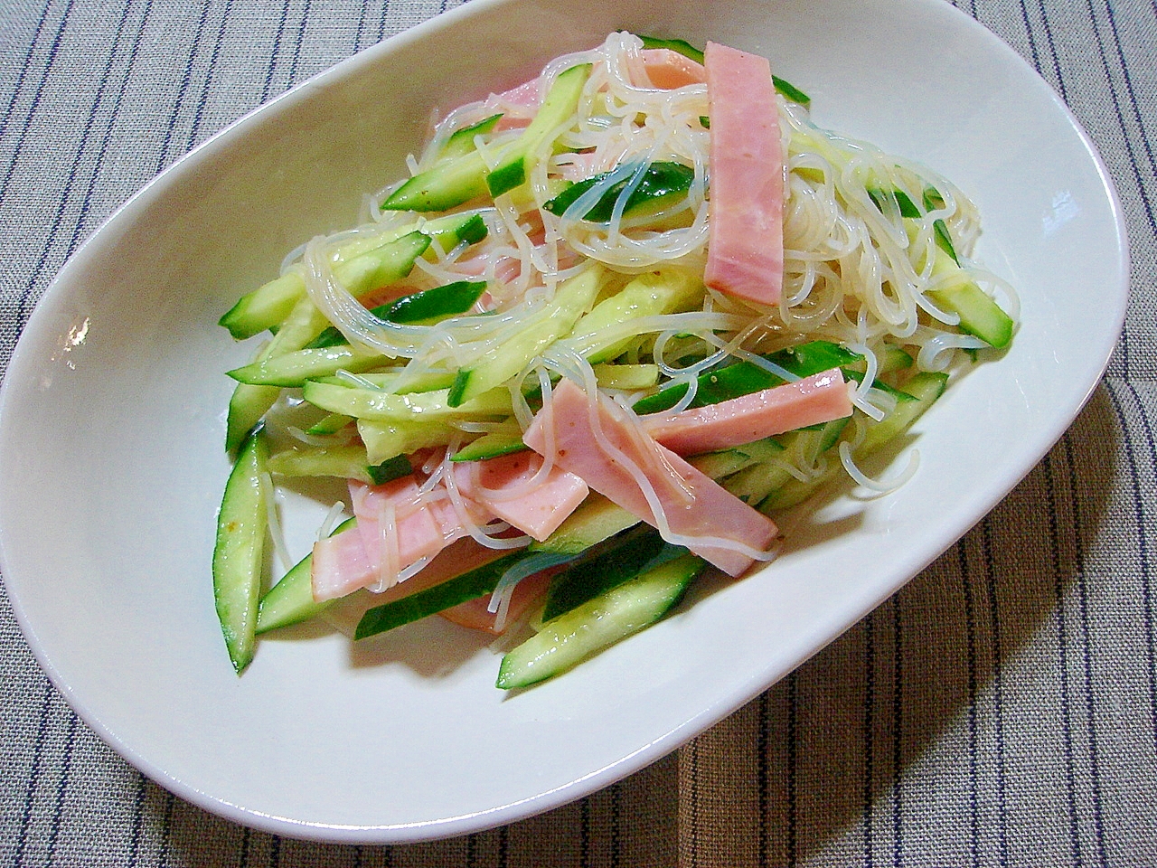
POLYGON ((703 282, 775 304, 783 290, 783 154, 766 58, 707 43, 710 200, 703 282))

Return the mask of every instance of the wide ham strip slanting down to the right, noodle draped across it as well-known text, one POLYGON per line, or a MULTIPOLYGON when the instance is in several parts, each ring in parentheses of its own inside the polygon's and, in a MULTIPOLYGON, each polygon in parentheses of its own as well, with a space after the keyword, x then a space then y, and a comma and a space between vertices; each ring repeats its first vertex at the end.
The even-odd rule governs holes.
MULTIPOLYGON (((647 496, 621 459, 599 442, 596 425, 613 449, 638 465, 658 498, 673 534, 717 537, 764 551, 779 531, 767 516, 756 512, 675 453, 648 442, 648 435, 612 402, 598 396, 591 405, 587 393, 569 380, 554 389, 551 412, 539 412, 523 435, 537 453, 546 450, 547 417, 552 419, 555 462, 649 524, 657 525, 647 496)), ((752 559, 731 549, 692 545, 691 551, 729 575, 739 575, 752 559)))

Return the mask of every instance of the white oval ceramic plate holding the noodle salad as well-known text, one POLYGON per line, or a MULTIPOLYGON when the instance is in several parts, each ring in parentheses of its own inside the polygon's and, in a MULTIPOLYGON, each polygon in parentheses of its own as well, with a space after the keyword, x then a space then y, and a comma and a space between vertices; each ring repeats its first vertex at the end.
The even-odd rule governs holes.
MULTIPOLYGON (((40 664, 178 795, 275 833, 389 843, 546 810, 673 750, 885 599, 1056 441, 1126 301, 1106 172, 1047 86, 938 0, 474 0, 208 141, 125 205, 39 303, 0 404, 0 554, 40 664), (920 426, 899 492, 845 498, 744 581, 565 677, 504 696, 484 640, 433 618, 361 647, 264 641, 233 674, 209 560, 227 475, 215 322, 282 255, 349 225, 434 106, 516 83, 617 28, 772 58, 824 126, 953 178, 1019 287, 1007 356, 920 426)), ((308 531, 307 531, 308 532, 308 531)))

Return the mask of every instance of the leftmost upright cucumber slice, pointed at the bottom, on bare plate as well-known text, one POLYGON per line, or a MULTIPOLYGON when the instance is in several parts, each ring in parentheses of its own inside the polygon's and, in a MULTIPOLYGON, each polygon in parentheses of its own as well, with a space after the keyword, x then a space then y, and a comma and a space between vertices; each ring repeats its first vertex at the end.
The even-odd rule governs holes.
POLYGON ((253 659, 265 532, 268 446, 258 428, 242 444, 218 514, 213 547, 213 598, 226 649, 239 675, 253 659))

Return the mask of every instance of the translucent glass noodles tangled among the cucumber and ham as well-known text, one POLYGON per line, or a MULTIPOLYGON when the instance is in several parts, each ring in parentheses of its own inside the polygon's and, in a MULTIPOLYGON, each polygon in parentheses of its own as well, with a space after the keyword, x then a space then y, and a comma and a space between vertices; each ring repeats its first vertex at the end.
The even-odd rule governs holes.
MULTIPOLYGON (((412 213, 379 207, 400 182, 367 197, 363 226, 316 238, 287 260, 285 267, 301 271, 310 297, 352 341, 395 360, 400 376, 381 388, 404 390, 417 376, 452 373, 481 359, 528 328, 558 286, 591 267, 592 260, 604 269, 599 297, 625 286, 632 275, 656 269, 702 275, 709 199, 710 132, 703 123, 709 115, 707 87, 653 87, 641 52, 638 37, 612 34, 598 49, 548 64, 537 83, 540 95, 565 69, 591 65, 576 115, 529 156, 528 184, 482 207, 466 206, 485 220, 485 240, 449 251, 432 245, 435 256, 419 258, 418 267, 397 288, 403 294, 454 280, 485 279, 487 292, 473 312, 491 316, 457 317, 436 325, 383 324, 334 278, 334 267, 344 258, 413 223, 412 213), (626 196, 642 169, 656 161, 690 167, 690 190, 664 209, 649 212, 646 220, 632 219, 622 213, 626 196), (553 214, 544 207, 567 182, 602 172, 611 172, 611 177, 565 213, 553 214), (596 223, 582 219, 589 204, 614 182, 626 182, 627 191, 619 197, 611 220, 596 223)), ((915 359, 913 372, 953 372, 970 363, 971 351, 987 346, 961 333, 956 328, 957 315, 941 309, 929 296, 937 288, 931 273, 934 221, 946 225, 967 277, 994 294, 1014 318, 1017 299, 1010 286, 970 258, 980 234, 979 218, 957 186, 916 163, 817 127, 803 105, 778 97, 778 109, 786 157, 781 301, 753 307, 705 290, 697 310, 622 325, 621 337, 631 339, 622 358, 657 363, 664 376, 659 385, 681 382, 691 387, 669 411, 675 412, 693 398, 695 376, 712 365, 735 359, 761 363, 758 354, 806 340, 831 340, 864 355, 868 375, 855 390, 854 403, 867 415, 880 418, 889 398, 869 387, 885 347, 902 347, 911 354, 915 359), (943 204, 920 218, 901 220, 897 203, 875 201, 871 187, 891 187, 926 204, 926 191, 933 189, 943 204)), ((455 131, 498 112, 529 117, 532 110, 494 95, 463 105, 435 125, 425 152, 411 160, 411 170, 435 164, 455 131)), ((476 137, 484 161, 496 164, 503 147, 518 133, 513 128, 476 137)), ((517 387, 511 385, 514 415, 523 428, 530 422, 531 410, 521 384, 528 377, 530 382, 539 380, 544 396, 548 395, 547 373, 568 376, 588 391, 597 388, 587 360, 566 339, 559 341, 516 377, 517 387)), ((464 433, 469 434, 469 426, 464 433)), ((843 458, 847 466, 850 458, 843 458)), ((552 459, 547 456, 548 463, 552 459)), ((787 463, 798 479, 817 475, 812 458, 793 459, 789 451, 779 462, 787 463)), ((855 472, 854 465, 849 466, 849 473, 855 472)), ((661 515, 658 521, 664 523, 661 515)), ((478 537, 485 535, 479 532, 478 537)))

